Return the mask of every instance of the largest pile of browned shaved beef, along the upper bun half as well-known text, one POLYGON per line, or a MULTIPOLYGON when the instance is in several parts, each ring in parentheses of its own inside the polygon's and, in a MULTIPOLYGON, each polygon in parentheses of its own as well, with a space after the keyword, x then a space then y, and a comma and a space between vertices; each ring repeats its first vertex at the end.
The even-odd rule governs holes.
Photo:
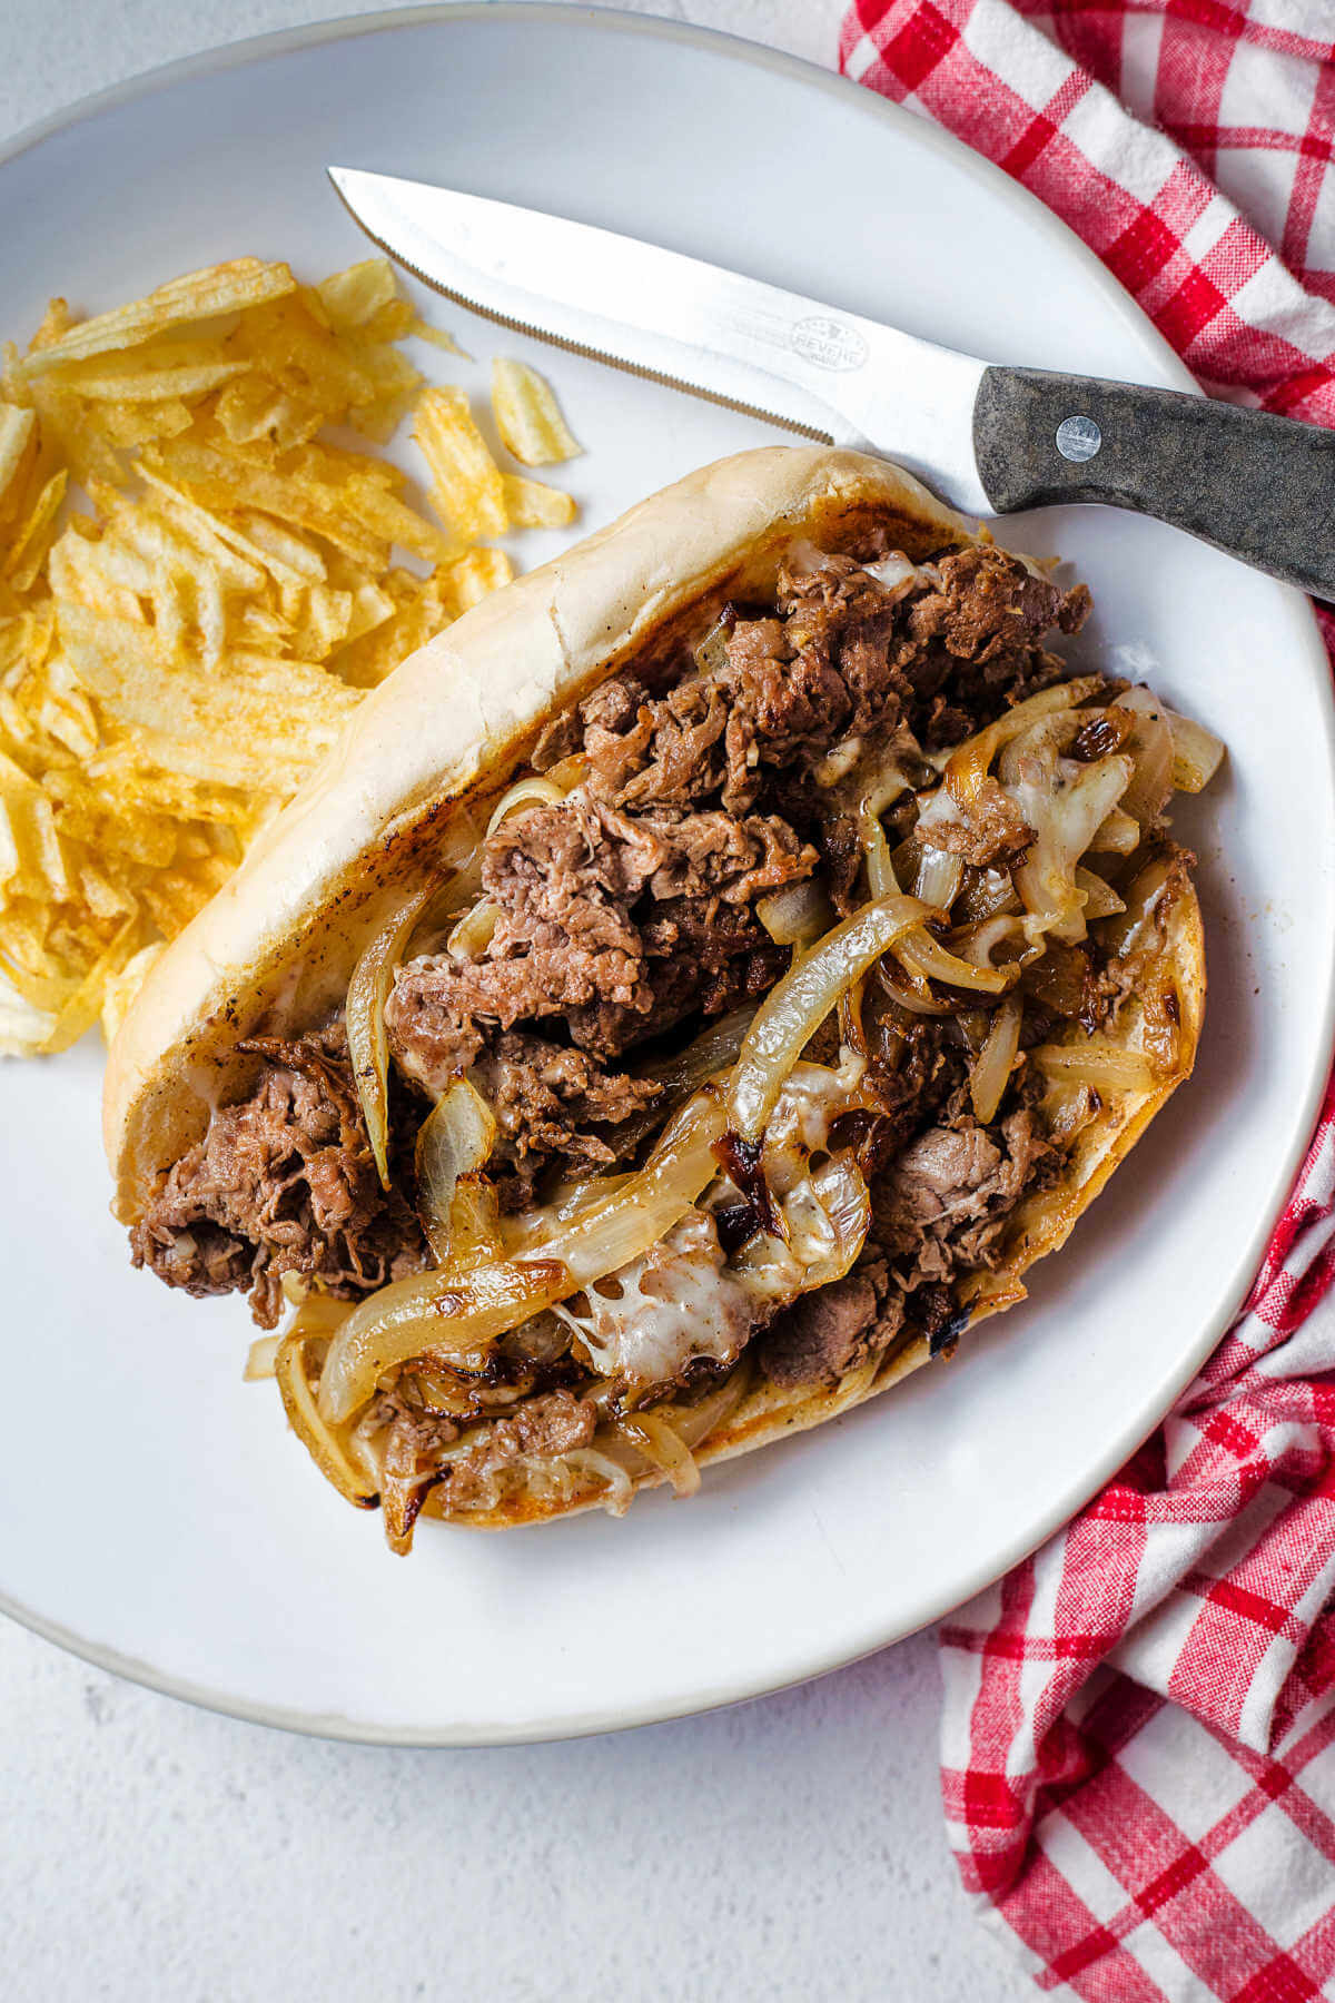
MULTIPOLYGON (((891 591, 851 557, 813 553, 781 573, 775 615, 731 615, 711 675, 650 695, 622 673, 556 719, 534 763, 582 751, 586 781, 488 837, 496 925, 484 953, 400 969, 386 1010, 400 1068, 438 1092, 498 1036, 538 1026, 610 1066, 691 1014, 763 993, 789 953, 755 917, 757 899, 821 859, 841 909, 853 895, 857 833, 821 811, 813 779, 831 745, 911 743, 905 733, 933 717, 949 727, 947 695, 975 705, 977 727, 1051 679, 1059 663, 1041 639, 1081 617, 1077 595, 991 547, 945 557, 933 575, 891 591)), ((999 857, 1033 839, 1005 797, 985 807, 985 827, 943 831, 945 843, 999 857)))

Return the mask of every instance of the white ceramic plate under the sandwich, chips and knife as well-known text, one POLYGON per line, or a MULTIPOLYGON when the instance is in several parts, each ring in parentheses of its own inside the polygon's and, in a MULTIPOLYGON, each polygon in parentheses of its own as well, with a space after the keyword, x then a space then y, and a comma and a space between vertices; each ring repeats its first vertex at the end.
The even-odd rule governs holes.
MULTIPOLYGON (((342 160, 602 222, 1001 361, 1183 385, 1103 268, 1009 180, 869 92, 741 42, 482 6, 178 64, 0 164, 4 332, 212 258, 308 276, 364 254, 342 160)), ((428 310, 476 357, 524 345, 428 310)), ((534 349, 592 527, 765 427, 534 349)), ((442 357, 424 353, 424 363, 442 357)), ((1007 525, 1087 577, 1081 655, 1153 663, 1231 745, 1179 817, 1201 849, 1211 1006, 1195 1084, 1041 1268, 1033 1302, 903 1392, 636 1502, 520 1536, 426 1524, 410 1562, 242 1386, 236 1302, 128 1270, 106 1212, 100 1054, 4 1068, 0 1590, 144 1683, 362 1739, 484 1743, 662 1719, 847 1662, 1035 1546, 1149 1432, 1241 1298, 1331 1042, 1331 699, 1293 593, 1163 529, 1007 525)), ((528 561, 534 539, 526 541, 528 561)))

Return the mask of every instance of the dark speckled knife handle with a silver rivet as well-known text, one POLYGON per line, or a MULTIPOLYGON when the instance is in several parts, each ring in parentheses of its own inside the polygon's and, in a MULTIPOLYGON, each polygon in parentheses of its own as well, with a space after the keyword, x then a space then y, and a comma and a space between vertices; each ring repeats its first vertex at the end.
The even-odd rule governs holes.
POLYGON ((1335 601, 1335 431, 1171 389, 987 369, 973 445, 999 515, 1107 501, 1335 601))

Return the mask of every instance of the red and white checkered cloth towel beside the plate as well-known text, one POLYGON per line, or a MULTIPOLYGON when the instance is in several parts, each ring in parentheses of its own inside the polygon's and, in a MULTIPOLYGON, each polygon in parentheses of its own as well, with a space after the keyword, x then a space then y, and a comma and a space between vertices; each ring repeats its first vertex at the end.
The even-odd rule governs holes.
MULTIPOLYGON (((1039 194, 1207 389, 1335 425, 1331 32, 1335 0, 857 0, 841 64, 1039 194)), ((1333 1280, 1335 1088, 1219 1352, 941 1630, 961 1875, 1055 1993, 1335 1995, 1333 1280)))

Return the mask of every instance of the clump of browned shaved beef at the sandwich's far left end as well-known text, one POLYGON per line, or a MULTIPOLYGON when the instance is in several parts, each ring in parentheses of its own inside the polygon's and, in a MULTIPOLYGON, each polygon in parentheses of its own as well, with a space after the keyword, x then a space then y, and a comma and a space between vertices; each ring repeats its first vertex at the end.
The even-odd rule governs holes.
POLYGON ((166 1176, 130 1234, 134 1264, 196 1296, 248 1286, 262 1328, 286 1272, 352 1300, 424 1266, 412 1210, 380 1188, 342 1030, 240 1048, 264 1060, 260 1082, 166 1176))

